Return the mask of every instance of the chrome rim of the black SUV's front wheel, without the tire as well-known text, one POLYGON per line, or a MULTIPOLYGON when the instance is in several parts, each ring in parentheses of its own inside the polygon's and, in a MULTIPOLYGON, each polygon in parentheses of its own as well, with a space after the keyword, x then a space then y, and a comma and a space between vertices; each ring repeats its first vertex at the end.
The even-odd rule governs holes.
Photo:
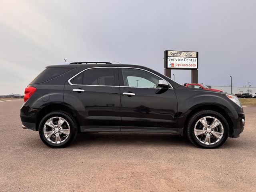
POLYGON ((221 140, 224 128, 220 120, 212 116, 206 116, 196 122, 194 134, 201 143, 212 145, 221 140))

